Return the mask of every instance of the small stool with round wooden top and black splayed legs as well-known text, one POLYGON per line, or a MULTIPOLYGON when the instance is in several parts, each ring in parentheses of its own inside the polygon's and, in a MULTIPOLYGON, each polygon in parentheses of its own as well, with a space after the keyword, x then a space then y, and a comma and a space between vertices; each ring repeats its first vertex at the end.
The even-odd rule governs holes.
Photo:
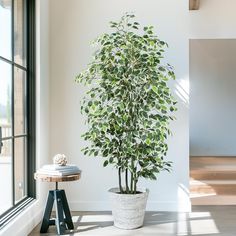
POLYGON ((80 173, 66 176, 52 176, 35 173, 34 178, 45 182, 55 182, 56 184, 55 190, 50 190, 48 193, 48 200, 44 211, 40 233, 46 233, 50 225, 56 225, 57 233, 59 235, 64 234, 67 229, 74 229, 65 191, 63 189, 58 189, 58 182, 78 180, 80 179, 80 173), (54 202, 56 208, 56 219, 51 219, 54 202))

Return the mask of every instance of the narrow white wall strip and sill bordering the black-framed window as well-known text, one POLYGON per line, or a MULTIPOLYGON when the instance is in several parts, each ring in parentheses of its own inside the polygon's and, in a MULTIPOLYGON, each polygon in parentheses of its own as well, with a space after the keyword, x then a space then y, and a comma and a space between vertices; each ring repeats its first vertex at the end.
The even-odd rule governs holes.
MULTIPOLYGON (((37 168, 48 162, 49 151, 49 4, 48 0, 37 0, 37 168)), ((0 230, 0 235, 25 236, 42 219, 47 183, 37 183, 37 200, 17 215, 8 225, 0 230)))

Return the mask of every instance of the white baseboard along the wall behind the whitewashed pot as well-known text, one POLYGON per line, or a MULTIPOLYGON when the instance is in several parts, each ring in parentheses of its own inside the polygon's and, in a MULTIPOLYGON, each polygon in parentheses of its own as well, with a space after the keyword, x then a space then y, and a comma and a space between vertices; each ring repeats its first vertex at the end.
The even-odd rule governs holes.
MULTIPOLYGON (((111 211, 109 201, 70 201, 69 206, 71 211, 111 211)), ((146 210, 190 212, 191 202, 148 201, 146 210)))

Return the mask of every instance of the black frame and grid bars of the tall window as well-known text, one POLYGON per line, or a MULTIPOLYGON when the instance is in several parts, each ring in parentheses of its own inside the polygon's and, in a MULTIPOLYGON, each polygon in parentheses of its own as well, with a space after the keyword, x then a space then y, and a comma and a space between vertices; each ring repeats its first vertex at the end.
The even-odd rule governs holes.
MULTIPOLYGON (((11 14, 12 14, 12 57, 14 57, 14 1, 11 0, 11 14)), ((36 183, 34 180, 34 173, 36 168, 36 1, 25 0, 26 4, 26 110, 27 110, 27 196, 15 203, 13 207, 0 215, 0 229, 4 227, 13 217, 22 211, 28 204, 36 198, 36 183)), ((14 78, 14 66, 21 68, 21 66, 14 63, 14 60, 8 60, 0 56, 0 60, 12 64, 12 78, 14 78)), ((13 83, 14 85, 14 83, 13 83)), ((12 86, 13 86, 12 85, 12 86)), ((12 90, 12 98, 14 98, 14 90, 12 90)), ((12 105, 12 110, 14 110, 12 105)), ((14 113, 14 111, 12 111, 14 113)), ((13 116, 14 117, 14 116, 13 116)), ((12 121, 14 124, 14 119, 12 121)), ((14 125, 13 125, 14 126, 14 125)), ((13 137, 14 138, 14 137, 13 137)), ((4 140, 4 138, 2 139, 4 140)), ((1 140, 0 140, 1 141, 1 140)), ((14 150, 12 150, 14 155, 14 150)), ((13 172, 14 172, 14 158, 13 158, 13 172)), ((13 177, 15 174, 13 173, 13 177)), ((14 178, 13 178, 14 189, 14 178)), ((14 191, 13 191, 14 192, 14 191)), ((14 193, 13 193, 14 194, 14 193)))

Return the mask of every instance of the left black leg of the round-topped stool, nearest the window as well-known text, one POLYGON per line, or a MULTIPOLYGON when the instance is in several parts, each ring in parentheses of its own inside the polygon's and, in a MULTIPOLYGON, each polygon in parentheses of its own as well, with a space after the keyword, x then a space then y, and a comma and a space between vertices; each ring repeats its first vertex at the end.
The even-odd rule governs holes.
POLYGON ((47 200, 46 208, 44 211, 44 216, 43 216, 43 221, 42 221, 40 233, 46 233, 49 225, 51 224, 50 223, 50 216, 51 216, 51 212, 52 212, 53 202, 54 202, 54 191, 49 191, 48 200, 47 200))

